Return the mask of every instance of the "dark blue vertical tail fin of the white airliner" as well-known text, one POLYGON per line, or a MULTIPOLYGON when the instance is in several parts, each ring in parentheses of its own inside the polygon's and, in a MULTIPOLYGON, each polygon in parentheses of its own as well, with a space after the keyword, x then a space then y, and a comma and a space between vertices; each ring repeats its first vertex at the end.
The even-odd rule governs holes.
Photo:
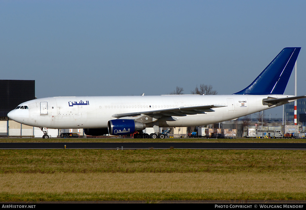
POLYGON ((287 47, 282 49, 251 85, 234 94, 284 94, 300 49, 300 47, 287 47))

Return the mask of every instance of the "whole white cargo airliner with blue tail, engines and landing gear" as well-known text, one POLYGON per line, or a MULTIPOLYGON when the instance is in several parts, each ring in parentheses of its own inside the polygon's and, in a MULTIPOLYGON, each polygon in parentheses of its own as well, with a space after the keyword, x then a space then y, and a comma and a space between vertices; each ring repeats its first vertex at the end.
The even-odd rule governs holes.
POLYGON ((159 127, 208 125, 305 98, 283 95, 299 52, 284 48, 251 85, 233 95, 49 97, 21 103, 7 116, 41 129, 83 128, 91 136, 140 131, 139 138, 164 138, 159 127), (143 134, 146 127, 155 133, 143 134))

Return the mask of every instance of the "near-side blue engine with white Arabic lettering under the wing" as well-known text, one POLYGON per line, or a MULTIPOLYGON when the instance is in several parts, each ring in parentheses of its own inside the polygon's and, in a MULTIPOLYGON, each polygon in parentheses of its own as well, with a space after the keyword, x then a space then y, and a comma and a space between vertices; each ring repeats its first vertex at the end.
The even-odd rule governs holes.
POLYGON ((107 123, 108 133, 115 136, 132 134, 135 131, 143 130, 145 128, 146 126, 144 123, 129 119, 110 120, 107 123))

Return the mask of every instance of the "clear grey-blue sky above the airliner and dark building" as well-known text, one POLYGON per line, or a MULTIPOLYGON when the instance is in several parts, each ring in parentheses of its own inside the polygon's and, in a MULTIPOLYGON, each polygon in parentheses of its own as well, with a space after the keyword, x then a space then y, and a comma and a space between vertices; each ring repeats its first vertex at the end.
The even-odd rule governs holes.
POLYGON ((200 84, 232 94, 283 48, 301 47, 298 95, 306 95, 305 8, 306 1, 2 0, 1 79, 35 80, 38 98, 161 95, 176 86, 190 94, 200 84))

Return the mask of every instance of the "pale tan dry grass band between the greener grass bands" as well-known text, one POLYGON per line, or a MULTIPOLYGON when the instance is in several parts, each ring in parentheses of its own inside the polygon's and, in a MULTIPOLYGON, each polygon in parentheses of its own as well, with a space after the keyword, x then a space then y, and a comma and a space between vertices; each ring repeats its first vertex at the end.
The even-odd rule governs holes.
POLYGON ((0 174, 0 193, 305 193, 292 173, 54 173, 0 174))

